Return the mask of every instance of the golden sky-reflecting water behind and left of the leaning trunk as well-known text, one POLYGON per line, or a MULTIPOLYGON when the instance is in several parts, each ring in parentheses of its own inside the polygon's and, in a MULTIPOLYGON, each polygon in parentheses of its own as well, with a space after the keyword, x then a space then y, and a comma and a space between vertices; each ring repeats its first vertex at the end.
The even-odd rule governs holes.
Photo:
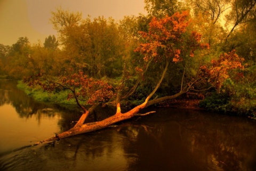
POLYGON ((0 81, 0 154, 70 129, 79 117, 71 118, 73 113, 34 101, 17 88, 16 81, 0 81), (47 108, 50 112, 44 111, 47 108))

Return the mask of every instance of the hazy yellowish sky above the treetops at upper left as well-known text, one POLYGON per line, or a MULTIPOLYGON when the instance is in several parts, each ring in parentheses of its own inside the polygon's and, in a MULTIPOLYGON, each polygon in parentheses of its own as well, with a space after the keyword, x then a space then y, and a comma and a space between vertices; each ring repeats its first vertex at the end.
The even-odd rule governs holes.
POLYGON ((60 6, 82 12, 84 18, 103 15, 119 20, 146 13, 144 0, 0 0, 0 44, 12 45, 19 37, 28 37, 31 44, 43 43, 49 35, 56 35, 49 20, 51 11, 60 6))

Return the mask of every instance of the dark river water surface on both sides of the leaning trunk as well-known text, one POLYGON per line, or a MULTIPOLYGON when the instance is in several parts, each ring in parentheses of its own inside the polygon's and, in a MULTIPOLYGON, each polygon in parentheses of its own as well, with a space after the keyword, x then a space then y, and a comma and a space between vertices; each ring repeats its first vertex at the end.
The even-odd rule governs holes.
MULTIPOLYGON (((29 147, 70 129, 80 113, 35 102, 16 82, 0 81, 0 170, 256 170, 256 121, 202 110, 151 110, 156 113, 29 147)), ((100 108, 89 119, 114 111, 100 108)))

